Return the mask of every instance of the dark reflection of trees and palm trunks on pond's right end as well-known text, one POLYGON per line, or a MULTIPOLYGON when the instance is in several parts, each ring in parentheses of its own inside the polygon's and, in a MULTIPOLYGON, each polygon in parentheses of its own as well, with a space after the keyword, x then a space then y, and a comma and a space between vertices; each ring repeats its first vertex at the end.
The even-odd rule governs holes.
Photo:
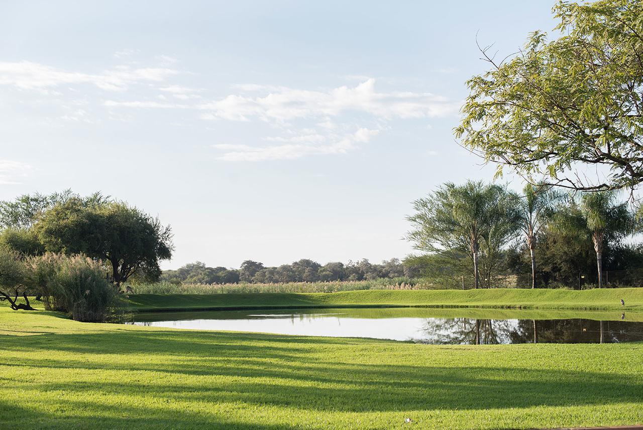
POLYGON ((422 343, 613 343, 643 341, 643 324, 589 319, 426 319, 422 343))

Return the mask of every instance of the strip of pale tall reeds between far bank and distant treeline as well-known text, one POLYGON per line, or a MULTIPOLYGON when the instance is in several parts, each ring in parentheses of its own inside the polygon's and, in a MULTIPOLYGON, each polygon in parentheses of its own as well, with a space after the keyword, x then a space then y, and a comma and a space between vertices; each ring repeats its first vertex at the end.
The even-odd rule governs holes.
POLYGON ((132 287, 134 294, 226 294, 226 293, 332 293, 352 290, 426 290, 428 283, 406 277, 371 281, 291 282, 280 284, 174 284, 159 282, 132 287))

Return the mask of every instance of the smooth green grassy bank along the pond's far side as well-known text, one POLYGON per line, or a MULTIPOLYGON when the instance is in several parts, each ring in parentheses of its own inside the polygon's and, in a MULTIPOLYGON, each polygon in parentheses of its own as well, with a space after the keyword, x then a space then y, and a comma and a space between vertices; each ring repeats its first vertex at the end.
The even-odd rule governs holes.
POLYGON ((223 310, 359 306, 462 306, 582 310, 643 310, 643 288, 595 290, 363 290, 337 293, 134 294, 129 303, 140 311, 223 310))

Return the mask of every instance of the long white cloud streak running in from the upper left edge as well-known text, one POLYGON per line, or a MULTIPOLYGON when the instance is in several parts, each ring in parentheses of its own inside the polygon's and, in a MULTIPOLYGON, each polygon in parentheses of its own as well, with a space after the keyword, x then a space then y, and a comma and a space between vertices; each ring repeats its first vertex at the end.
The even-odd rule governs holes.
POLYGON ((118 66, 102 73, 65 71, 37 62, 0 62, 0 85, 20 89, 47 89, 57 86, 90 84, 109 91, 122 90, 128 85, 144 82, 161 82, 177 75, 168 68, 131 68, 118 66))

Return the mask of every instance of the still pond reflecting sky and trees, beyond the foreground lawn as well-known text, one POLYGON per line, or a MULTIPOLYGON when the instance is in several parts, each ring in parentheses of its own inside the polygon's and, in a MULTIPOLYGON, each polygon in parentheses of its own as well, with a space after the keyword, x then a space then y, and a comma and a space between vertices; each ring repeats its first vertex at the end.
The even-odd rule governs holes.
POLYGON ((643 341, 636 316, 638 321, 621 312, 338 308, 139 313, 133 324, 428 344, 607 343, 643 341))

